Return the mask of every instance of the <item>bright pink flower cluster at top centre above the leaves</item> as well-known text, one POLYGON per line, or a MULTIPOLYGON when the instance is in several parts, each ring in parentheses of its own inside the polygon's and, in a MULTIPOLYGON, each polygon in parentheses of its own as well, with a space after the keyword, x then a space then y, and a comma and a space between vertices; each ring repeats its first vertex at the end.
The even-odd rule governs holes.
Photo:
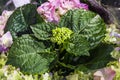
POLYGON ((48 22, 58 23, 60 16, 71 9, 88 9, 86 4, 80 3, 79 0, 48 0, 38 7, 39 14, 45 17, 48 22))

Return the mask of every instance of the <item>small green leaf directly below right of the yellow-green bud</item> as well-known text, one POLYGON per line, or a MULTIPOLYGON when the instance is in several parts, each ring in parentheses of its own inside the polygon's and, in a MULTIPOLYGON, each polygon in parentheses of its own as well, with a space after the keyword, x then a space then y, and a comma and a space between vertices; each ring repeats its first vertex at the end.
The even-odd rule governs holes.
POLYGON ((75 56, 89 56, 89 43, 81 35, 72 35, 69 42, 64 43, 63 46, 68 53, 71 53, 75 56))

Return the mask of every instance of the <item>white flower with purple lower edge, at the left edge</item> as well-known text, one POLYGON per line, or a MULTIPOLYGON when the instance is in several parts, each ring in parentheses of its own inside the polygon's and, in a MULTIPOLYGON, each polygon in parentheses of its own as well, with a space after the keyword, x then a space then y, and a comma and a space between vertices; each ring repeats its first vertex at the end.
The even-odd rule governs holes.
POLYGON ((5 52, 12 45, 13 39, 11 33, 8 31, 0 38, 0 52, 5 52))

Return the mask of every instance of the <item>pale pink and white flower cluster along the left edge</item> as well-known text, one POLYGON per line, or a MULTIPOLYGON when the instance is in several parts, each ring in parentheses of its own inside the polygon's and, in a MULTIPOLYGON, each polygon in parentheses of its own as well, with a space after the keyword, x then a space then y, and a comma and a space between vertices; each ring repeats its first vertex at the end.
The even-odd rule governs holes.
POLYGON ((11 33, 8 31, 4 34, 4 28, 6 26, 7 20, 13 11, 3 11, 0 16, 0 52, 7 51, 8 47, 13 43, 11 33))

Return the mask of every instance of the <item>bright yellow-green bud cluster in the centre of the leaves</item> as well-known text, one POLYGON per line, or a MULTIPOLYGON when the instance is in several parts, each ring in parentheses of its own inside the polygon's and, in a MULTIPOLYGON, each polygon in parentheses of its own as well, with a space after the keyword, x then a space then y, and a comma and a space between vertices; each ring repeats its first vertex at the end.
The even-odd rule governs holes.
POLYGON ((69 39, 72 33, 72 30, 65 27, 53 29, 51 41, 60 45, 69 39))

